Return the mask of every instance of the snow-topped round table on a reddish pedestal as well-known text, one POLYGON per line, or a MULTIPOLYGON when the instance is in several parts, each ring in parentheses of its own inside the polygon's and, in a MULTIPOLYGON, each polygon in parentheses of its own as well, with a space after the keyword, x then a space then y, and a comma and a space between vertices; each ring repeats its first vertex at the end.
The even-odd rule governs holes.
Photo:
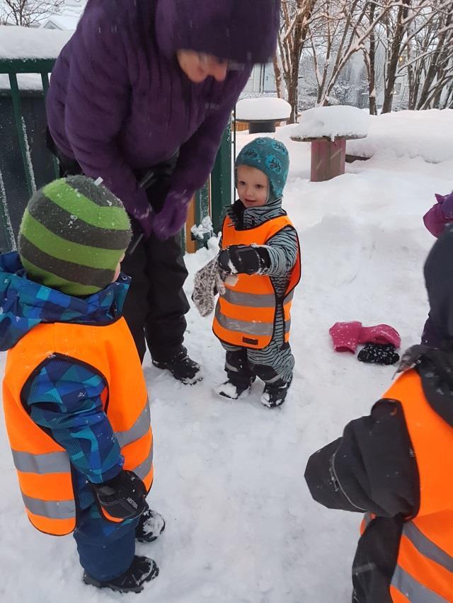
POLYGON ((302 113, 292 140, 311 142, 311 182, 345 173, 346 141, 365 138, 369 115, 356 107, 316 107, 302 113))

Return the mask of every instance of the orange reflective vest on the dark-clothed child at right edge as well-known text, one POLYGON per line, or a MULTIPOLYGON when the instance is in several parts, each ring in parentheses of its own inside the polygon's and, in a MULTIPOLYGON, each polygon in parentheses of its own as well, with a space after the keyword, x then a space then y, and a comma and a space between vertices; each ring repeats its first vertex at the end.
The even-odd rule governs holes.
MULTIPOLYGON (((420 477, 420 509, 403 524, 390 595, 395 603, 453 601, 453 427, 410 370, 383 398, 401 402, 420 477)), ((362 529, 373 519, 367 514, 362 529)))

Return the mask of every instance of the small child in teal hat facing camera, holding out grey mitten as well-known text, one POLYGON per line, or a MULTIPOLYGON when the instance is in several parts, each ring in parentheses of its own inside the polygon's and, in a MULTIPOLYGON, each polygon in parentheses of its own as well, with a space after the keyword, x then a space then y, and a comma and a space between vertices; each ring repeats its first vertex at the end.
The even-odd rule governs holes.
MULTIPOLYGON (((222 251, 213 260, 224 280, 213 331, 226 350, 228 377, 216 391, 237 399, 259 377, 265 382, 261 402, 273 408, 285 401, 292 381, 290 309, 301 273, 297 231, 282 209, 288 151, 278 140, 256 138, 235 167, 239 200, 227 209, 222 251)), ((207 282, 203 270, 195 278, 195 304, 207 282)))

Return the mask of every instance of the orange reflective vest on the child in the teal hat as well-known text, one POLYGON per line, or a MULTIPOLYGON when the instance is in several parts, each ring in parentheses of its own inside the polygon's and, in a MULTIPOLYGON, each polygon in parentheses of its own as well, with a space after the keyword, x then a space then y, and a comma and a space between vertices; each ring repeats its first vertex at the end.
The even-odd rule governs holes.
MULTIPOLYGON (((292 226, 287 216, 272 218, 255 228, 237 230, 227 216, 222 226, 222 248, 230 245, 265 245, 277 232, 292 226)), ((283 306, 285 341, 289 340, 291 304, 294 288, 300 280, 300 250, 289 275, 289 282, 282 299, 277 298, 270 277, 267 275, 238 275, 236 285, 227 285, 219 296, 212 329, 217 337, 241 348, 262 350, 270 344, 275 328, 277 308, 283 306)))

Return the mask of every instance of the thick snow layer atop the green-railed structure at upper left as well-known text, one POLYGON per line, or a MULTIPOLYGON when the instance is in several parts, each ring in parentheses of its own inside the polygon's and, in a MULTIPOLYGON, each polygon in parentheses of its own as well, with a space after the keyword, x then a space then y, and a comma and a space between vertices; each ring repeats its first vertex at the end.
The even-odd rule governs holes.
POLYGON ((72 33, 0 25, 0 59, 56 59, 72 33))

